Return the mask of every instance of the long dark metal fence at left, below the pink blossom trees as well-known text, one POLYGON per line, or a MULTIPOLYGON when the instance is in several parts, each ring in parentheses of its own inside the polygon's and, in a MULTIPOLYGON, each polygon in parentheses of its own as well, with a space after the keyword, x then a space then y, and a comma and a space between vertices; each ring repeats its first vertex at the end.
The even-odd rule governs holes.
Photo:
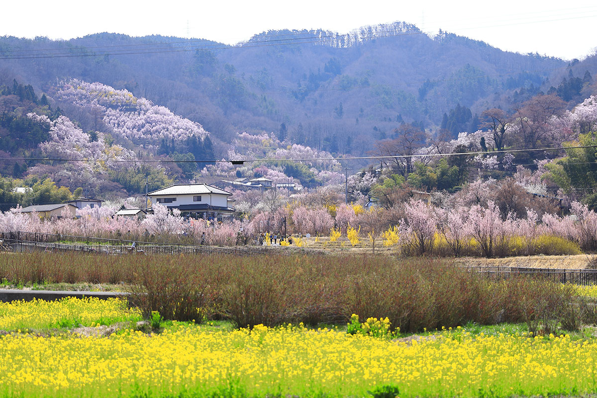
POLYGON ((139 240, 73 236, 38 232, 0 232, 0 240, 13 251, 81 251, 103 254, 235 254, 260 255, 266 250, 141 242, 139 240))

